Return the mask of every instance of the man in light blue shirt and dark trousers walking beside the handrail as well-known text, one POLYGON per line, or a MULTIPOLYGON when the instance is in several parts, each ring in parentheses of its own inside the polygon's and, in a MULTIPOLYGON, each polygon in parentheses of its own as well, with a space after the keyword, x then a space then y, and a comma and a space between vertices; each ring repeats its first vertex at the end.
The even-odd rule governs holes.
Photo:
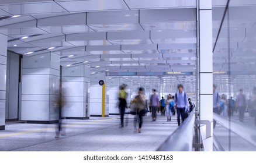
POLYGON ((177 110, 177 121, 178 126, 181 125, 181 120, 179 119, 181 116, 182 122, 185 120, 185 110, 188 108, 188 99, 186 98, 186 93, 183 90, 182 84, 178 86, 178 92, 174 97, 174 106, 177 110))

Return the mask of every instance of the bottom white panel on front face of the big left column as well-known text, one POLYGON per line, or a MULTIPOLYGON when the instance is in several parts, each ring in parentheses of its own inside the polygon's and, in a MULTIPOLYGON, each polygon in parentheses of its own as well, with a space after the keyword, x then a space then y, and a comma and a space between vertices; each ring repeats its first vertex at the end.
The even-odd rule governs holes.
POLYGON ((49 101, 22 101, 22 121, 49 121, 49 101))

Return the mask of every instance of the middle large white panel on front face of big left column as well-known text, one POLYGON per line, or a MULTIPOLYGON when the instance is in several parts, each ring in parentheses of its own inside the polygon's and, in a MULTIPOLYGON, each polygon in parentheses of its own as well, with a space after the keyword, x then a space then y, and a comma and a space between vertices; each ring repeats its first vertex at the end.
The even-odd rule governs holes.
POLYGON ((22 94, 49 94, 49 75, 23 75, 22 94))

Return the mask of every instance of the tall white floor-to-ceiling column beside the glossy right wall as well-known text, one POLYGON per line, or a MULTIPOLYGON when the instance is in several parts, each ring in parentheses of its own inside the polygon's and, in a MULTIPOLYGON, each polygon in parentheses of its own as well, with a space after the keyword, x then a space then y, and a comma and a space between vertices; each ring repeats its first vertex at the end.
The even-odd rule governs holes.
MULTIPOLYGON (((199 54, 198 86, 200 120, 213 122, 213 53, 212 53, 212 0, 199 1, 199 54)), ((206 137, 206 126, 200 127, 206 151, 213 150, 213 133, 206 137)), ((212 125, 211 125, 212 130, 212 125)))

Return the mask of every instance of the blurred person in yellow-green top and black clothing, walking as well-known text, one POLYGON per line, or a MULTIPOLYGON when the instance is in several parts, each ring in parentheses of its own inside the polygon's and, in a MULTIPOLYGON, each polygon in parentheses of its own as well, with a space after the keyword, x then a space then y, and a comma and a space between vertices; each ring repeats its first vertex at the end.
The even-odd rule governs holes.
POLYGON ((124 127, 124 123, 123 123, 124 112, 125 112, 125 109, 127 108, 127 101, 126 101, 127 93, 125 89, 126 89, 126 84, 122 84, 122 86, 120 86, 120 91, 119 91, 119 109, 120 109, 120 119, 121 119, 120 127, 124 127))

